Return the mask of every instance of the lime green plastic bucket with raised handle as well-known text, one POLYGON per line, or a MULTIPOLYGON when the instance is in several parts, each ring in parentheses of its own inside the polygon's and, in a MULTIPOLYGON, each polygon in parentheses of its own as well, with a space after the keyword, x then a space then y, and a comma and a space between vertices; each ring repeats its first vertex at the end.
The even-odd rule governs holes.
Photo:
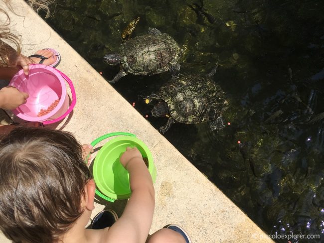
POLYGON ((137 147, 143 158, 148 160, 148 169, 153 182, 157 177, 157 170, 149 148, 132 133, 108 133, 92 141, 91 145, 94 147, 100 141, 117 135, 122 136, 115 137, 102 146, 93 164, 93 178, 99 189, 96 189, 96 194, 109 202, 114 202, 116 199, 128 199, 132 194, 128 171, 119 162, 120 155, 126 151, 127 147, 137 147))

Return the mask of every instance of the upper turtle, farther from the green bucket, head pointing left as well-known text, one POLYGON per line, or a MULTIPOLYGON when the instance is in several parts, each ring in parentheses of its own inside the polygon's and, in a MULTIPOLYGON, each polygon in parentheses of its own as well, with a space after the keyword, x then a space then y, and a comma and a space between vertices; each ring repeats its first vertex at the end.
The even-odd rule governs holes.
POLYGON ((104 56, 105 63, 120 64, 122 68, 108 82, 116 83, 127 74, 146 76, 171 71, 175 75, 180 70, 181 53, 181 48, 171 36, 156 28, 149 28, 148 34, 122 43, 118 53, 104 56))

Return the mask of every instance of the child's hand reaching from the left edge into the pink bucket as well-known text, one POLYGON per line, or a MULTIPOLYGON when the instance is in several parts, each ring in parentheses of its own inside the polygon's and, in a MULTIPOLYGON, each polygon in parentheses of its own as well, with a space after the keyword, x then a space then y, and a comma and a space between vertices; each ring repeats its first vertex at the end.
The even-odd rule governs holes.
POLYGON ((18 106, 25 104, 29 95, 20 92, 17 88, 8 86, 0 90, 0 108, 13 110, 18 106))

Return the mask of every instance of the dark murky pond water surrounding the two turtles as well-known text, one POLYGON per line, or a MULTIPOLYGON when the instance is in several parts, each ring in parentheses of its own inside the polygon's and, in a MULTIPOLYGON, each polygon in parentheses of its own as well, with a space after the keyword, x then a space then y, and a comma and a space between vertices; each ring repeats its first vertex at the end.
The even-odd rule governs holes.
MULTIPOLYGON (((324 241, 323 13, 323 0, 65 0, 46 21, 106 80, 120 67, 102 58, 136 17, 132 37, 155 27, 178 42, 181 74, 218 61, 224 128, 175 123, 164 136, 268 234, 321 236, 290 240, 302 243, 324 241)), ((113 86, 158 129, 167 118, 143 98, 170 78, 127 75, 113 86)))

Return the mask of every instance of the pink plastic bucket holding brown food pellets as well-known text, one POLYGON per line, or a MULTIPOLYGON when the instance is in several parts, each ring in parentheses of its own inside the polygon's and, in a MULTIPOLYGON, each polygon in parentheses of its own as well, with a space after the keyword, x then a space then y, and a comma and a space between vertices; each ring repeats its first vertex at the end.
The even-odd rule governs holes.
POLYGON ((50 66, 30 65, 28 76, 21 69, 10 80, 9 86, 29 94, 26 104, 12 110, 13 114, 25 121, 42 122, 44 125, 58 122, 69 115, 76 103, 72 81, 64 73, 50 66), (65 81, 69 84, 72 94, 70 106, 65 81), (53 103, 55 107, 49 109, 53 103), (46 114, 42 111, 46 111, 46 114))

